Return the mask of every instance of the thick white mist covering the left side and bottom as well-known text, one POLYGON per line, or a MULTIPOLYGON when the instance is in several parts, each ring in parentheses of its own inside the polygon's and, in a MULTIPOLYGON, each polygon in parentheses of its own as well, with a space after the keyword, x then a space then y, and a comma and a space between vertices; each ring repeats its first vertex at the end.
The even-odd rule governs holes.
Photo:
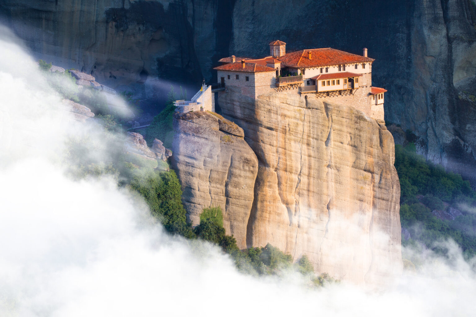
POLYGON ((473 262, 451 241, 449 257, 415 254, 417 270, 368 290, 253 278, 213 245, 169 236, 113 176, 66 173, 68 140, 103 131, 74 121, 6 29, 0 56, 0 316, 474 315, 473 262))

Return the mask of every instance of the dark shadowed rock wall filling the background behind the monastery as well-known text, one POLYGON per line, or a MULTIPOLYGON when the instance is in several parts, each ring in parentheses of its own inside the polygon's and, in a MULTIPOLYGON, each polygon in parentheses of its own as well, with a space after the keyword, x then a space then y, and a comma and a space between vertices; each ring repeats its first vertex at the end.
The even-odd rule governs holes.
MULTIPOLYGON (((387 122, 420 153, 473 178, 476 30, 472 0, 3 0, 0 15, 38 58, 113 87, 160 95, 213 81, 218 58, 333 47, 376 58, 387 122)), ((191 91, 189 92, 191 93, 191 91)))

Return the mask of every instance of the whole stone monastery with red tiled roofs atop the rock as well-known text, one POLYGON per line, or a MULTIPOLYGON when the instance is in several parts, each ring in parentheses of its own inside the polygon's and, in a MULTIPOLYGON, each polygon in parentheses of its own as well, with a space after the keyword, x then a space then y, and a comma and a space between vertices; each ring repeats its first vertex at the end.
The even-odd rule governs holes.
MULTIPOLYGON (((218 73, 219 93, 227 86, 256 98, 275 91, 312 96, 351 106, 366 115, 384 119, 384 88, 372 86, 373 58, 334 48, 303 49, 287 53, 286 43, 269 43, 270 55, 252 59, 231 56, 221 58, 218 73)), ((216 89, 217 90, 217 89, 216 89)))

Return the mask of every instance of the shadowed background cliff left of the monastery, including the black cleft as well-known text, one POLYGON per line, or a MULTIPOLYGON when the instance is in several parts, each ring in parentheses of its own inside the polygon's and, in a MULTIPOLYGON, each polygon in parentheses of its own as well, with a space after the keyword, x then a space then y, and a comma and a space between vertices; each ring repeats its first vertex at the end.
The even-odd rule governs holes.
POLYGON ((214 29, 221 7, 218 1, 5 0, 0 21, 37 58, 148 97, 167 93, 171 83, 210 77, 212 57, 223 55, 214 29))

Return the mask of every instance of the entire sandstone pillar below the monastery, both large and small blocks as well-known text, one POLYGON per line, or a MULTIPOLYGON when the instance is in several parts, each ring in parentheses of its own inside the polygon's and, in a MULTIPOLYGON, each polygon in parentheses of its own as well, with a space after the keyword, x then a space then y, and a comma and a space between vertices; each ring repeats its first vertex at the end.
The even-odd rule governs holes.
POLYGON ((192 221, 219 205, 240 248, 271 243, 357 283, 399 274, 400 187, 385 125, 296 95, 255 101, 228 88, 219 102, 252 151, 239 137, 223 142, 213 116, 176 115, 172 162, 192 221))

